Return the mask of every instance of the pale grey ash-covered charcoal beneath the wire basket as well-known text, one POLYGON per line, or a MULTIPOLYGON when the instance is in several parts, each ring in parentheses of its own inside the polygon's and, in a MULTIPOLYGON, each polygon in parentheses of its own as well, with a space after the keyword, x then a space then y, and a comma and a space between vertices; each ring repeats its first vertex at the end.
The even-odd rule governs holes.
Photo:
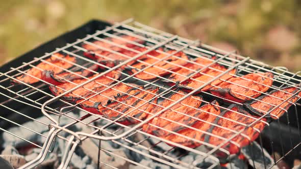
MULTIPOLYGON (((76 114, 71 114, 71 116, 79 117, 79 115, 76 115, 76 114)), ((48 119, 46 117, 41 117, 41 118, 38 118, 37 120, 46 121, 48 119)), ((60 125, 62 126, 65 124, 69 124, 71 121, 72 121, 72 119, 63 116, 60 120, 60 125)), ((104 126, 107 123, 108 123, 107 121, 99 120, 97 122, 94 122, 93 125, 104 126)), ((49 131, 48 126, 42 125, 37 122, 27 122, 22 125, 24 125, 28 128, 31 128, 31 129, 35 129, 35 131, 37 131, 38 133, 42 133, 43 135, 47 135, 48 131, 49 131)), ((89 131, 87 131, 87 129, 89 129, 89 128, 90 127, 85 126, 85 125, 74 125, 68 129, 70 129, 72 131, 89 132, 89 131)), ((118 125, 114 124, 114 125, 110 126, 109 128, 107 128, 106 131, 114 132, 118 129, 119 129, 118 125)), ((127 129, 122 129, 119 132, 122 133, 125 130, 127 130, 127 129)), ((15 133, 16 135, 19 135, 23 138, 26 138, 34 143, 38 143, 40 145, 43 144, 45 141, 45 138, 42 137, 41 135, 33 133, 33 132, 28 132, 27 129, 24 129, 22 127, 12 127, 10 129, 8 129, 8 131, 15 133)), ((106 132, 103 132, 103 134, 109 135, 109 134, 106 134, 106 132)), ((66 132, 60 132, 60 135, 66 137, 66 138, 70 137, 70 135, 66 132)), ((160 163, 156 160, 153 160, 152 158, 142 155, 142 153, 145 153, 145 154, 153 155, 153 156, 156 156, 156 157, 162 159, 162 157, 160 157, 158 154, 149 152, 141 147, 134 146, 133 144, 127 142, 127 139, 128 139, 128 140, 131 140, 131 142, 137 143, 137 142, 139 142, 139 140, 144 139, 144 138, 146 138, 145 135, 136 133, 136 134, 133 134, 132 136, 126 137, 126 140, 124 140, 124 139, 116 140, 119 144, 123 144, 123 145, 129 146, 135 150, 138 150, 137 152, 132 151, 126 147, 120 146, 119 144, 115 143, 115 141, 111 141, 111 140, 102 141, 101 148, 104 150, 107 150, 109 152, 112 152, 113 154, 117 154, 121 157, 128 158, 130 160, 138 162, 139 164, 148 166, 150 168, 162 168, 162 169, 171 168, 169 165, 160 163)), ((15 147, 20 148, 20 147, 27 147, 27 146, 31 145, 30 143, 25 142, 24 140, 21 140, 13 135, 10 135, 9 133, 2 134, 2 142, 3 142, 2 146, 4 146, 4 148, 6 148, 4 150, 4 153, 15 154, 15 155, 19 155, 18 151, 15 149, 15 147)), ((184 150, 182 151, 182 149, 179 149, 179 148, 172 148, 171 146, 168 146, 164 142, 161 142, 161 143, 159 143, 159 142, 160 142, 160 140, 150 137, 147 140, 145 140, 144 142, 142 142, 141 145, 145 146, 146 148, 150 147, 150 149, 152 149, 153 151, 156 151, 158 153, 164 153, 164 152, 168 151, 168 153, 166 155, 173 157, 173 158, 177 158, 180 155, 183 155, 183 153, 187 153, 187 155, 183 155, 179 160, 181 160, 185 163, 188 163, 188 164, 191 164, 196 159, 199 159, 202 157, 200 155, 196 155, 195 153, 191 153, 191 152, 188 153, 187 151, 184 151, 184 150)), ((55 145, 53 147, 53 152, 47 154, 47 157, 41 163, 40 168, 42 168, 43 166, 53 166, 54 168, 57 167, 60 163, 62 154, 65 151, 66 144, 67 144, 67 142, 65 140, 56 139, 55 145)), ((96 168, 97 167, 96 163, 98 162, 98 144, 99 144, 99 140, 96 140, 96 139, 84 140, 82 145, 78 146, 76 151, 72 155, 72 158, 69 163, 70 168, 73 168, 73 166, 76 168, 87 168, 87 169, 96 168), (88 144, 88 146, 84 146, 87 144, 88 144), (90 153, 90 152, 93 152, 93 153, 90 153)), ((196 149, 199 151, 203 151, 203 152, 208 151, 208 150, 206 150, 206 148, 204 146, 200 146, 196 149)), ((31 152, 27 155, 24 155, 23 158, 26 161, 33 160, 34 158, 36 158, 38 156, 40 151, 41 151, 40 148, 33 148, 31 150, 31 152)), ((139 165, 134 165, 127 160, 124 160, 122 158, 114 156, 110 153, 106 153, 105 151, 101 151, 101 159, 100 160, 104 163, 108 163, 117 168, 120 168, 120 167, 134 168, 134 169, 141 168, 141 166, 139 166, 139 165)), ((200 162, 197 165, 197 167, 204 168, 204 167, 211 166, 214 163, 216 163, 216 162, 211 160, 210 158, 206 158, 205 161, 200 162)), ((230 163, 228 163, 223 168, 242 168, 245 165, 246 165, 246 163, 244 161, 242 161, 238 158, 234 158, 231 160, 230 163)), ((102 165, 102 167, 105 168, 106 166, 102 165)))

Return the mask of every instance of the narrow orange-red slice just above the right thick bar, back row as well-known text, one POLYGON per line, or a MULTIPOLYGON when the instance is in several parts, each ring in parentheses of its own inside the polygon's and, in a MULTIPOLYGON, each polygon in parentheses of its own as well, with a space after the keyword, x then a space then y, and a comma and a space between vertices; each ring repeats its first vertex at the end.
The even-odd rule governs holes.
MULTIPOLYGON (((212 58, 213 60, 215 58, 212 58)), ((209 59, 204 59, 204 58, 197 58, 195 61, 195 63, 188 63, 187 65, 185 65, 186 68, 188 69, 184 69, 184 68, 181 68, 180 70, 178 71, 175 71, 175 73, 171 74, 168 79, 169 80, 162 80, 164 82, 167 82, 167 83, 174 83, 174 82, 177 82, 177 81, 183 81, 186 79, 187 76, 191 75, 194 73, 194 71, 191 71, 191 70, 195 70, 195 71, 198 71, 204 67, 206 67, 207 65, 211 64, 213 61, 212 60, 209 60, 209 59), (199 64, 199 65, 197 65, 199 64), (200 66, 202 65, 202 66, 200 66), (191 70, 189 70, 191 69, 191 70), (181 75, 180 75, 181 74, 181 75)), ((201 72, 204 72, 206 71, 207 69, 201 71, 201 72)))

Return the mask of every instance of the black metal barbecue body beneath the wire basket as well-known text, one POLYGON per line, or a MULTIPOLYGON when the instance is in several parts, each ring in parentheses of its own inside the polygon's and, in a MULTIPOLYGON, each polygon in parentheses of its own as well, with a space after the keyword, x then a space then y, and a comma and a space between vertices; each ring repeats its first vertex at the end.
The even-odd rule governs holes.
MULTIPOLYGON (((105 22, 105 21, 100 21, 100 20, 90 20, 89 22, 85 23, 84 25, 82 25, 74 30, 71 30, 61 36, 58 36, 55 39, 48 41, 48 42, 32 49, 31 51, 29 51, 25 54, 22 54, 20 57, 14 59, 13 61, 10 61, 7 64, 1 66, 0 72, 5 73, 5 72, 11 70, 11 67, 20 66, 20 65, 22 65, 23 62, 25 62, 25 63, 30 62, 30 61, 34 60, 34 58, 38 58, 47 52, 54 51, 54 50, 56 50, 56 48, 65 46, 67 43, 75 42, 77 39, 81 39, 81 38, 86 37, 89 34, 95 33, 97 30, 99 30, 99 31, 104 30, 107 26, 111 26, 111 24, 108 22, 105 22)), ((208 50, 208 49, 206 49, 206 50, 208 50)), ((216 51, 213 51, 213 52, 216 52, 216 51)), ((5 81, 5 82, 8 82, 8 81, 5 81)), ((8 86, 8 84, 2 84, 2 85, 8 86)), ((22 85, 18 85, 18 88, 23 88, 23 87, 22 87, 22 85)), ((1 89, 1 90, 3 93, 9 94, 9 92, 5 92, 3 89, 1 89)), ((46 89, 46 90, 48 90, 48 89, 46 89)), ((35 97, 39 98, 40 96, 37 95, 35 97)), ((5 98, 3 98, 3 97, 0 98, 0 102, 2 103, 3 101, 6 101, 4 99, 5 98)), ((24 101, 26 101, 26 100, 24 100, 24 101)), ((301 101, 299 100, 298 102, 300 103, 301 101)), ((20 104, 18 104, 18 102, 15 102, 13 100, 11 102, 9 101, 5 104, 10 104, 9 105, 10 107, 12 107, 16 110, 20 110, 20 112, 24 112, 24 114, 29 115, 33 118, 37 118, 42 115, 40 112, 37 112, 35 114, 35 112, 33 111, 34 110, 33 107, 31 107, 31 106, 22 107, 22 106, 20 106, 20 104)), ((301 112, 301 106, 297 106, 297 108, 298 108, 297 112, 301 112)), ((0 107, 0 112, 4 111, 4 110, 5 110, 4 108, 0 107)), ((294 114, 293 106, 289 109, 289 111, 291 111, 292 114, 294 114)), ((18 116, 18 114, 11 114, 11 115, 5 114, 5 115, 7 115, 5 118, 10 119, 18 124, 25 123, 26 120, 28 120, 28 119, 24 120, 24 118, 20 118, 20 116, 18 116)), ((299 115, 299 117, 300 116, 301 115, 299 115)), ((297 138, 297 140, 298 140, 300 133, 298 133, 299 130, 297 128, 298 128, 298 126, 301 126, 301 118, 296 119, 295 117, 296 117, 295 115, 289 116, 290 127, 292 127, 290 130, 295 131, 295 132, 293 132, 293 134, 295 134, 295 135, 292 135, 291 137, 297 138)), ((278 128, 277 126, 279 126, 279 125, 271 125, 270 129, 268 129, 268 127, 265 128, 265 130, 263 131, 263 137, 262 137, 264 139, 263 142, 273 142, 274 145, 281 144, 281 143, 279 143, 279 139, 277 137, 268 135, 268 134, 270 134, 270 130, 272 130, 272 132, 275 132, 275 133, 276 132, 288 133, 289 129, 287 128, 287 117, 285 117, 285 116, 281 117, 279 122, 281 124, 283 124, 282 125, 283 127, 278 128), (266 135, 265 135, 265 133, 266 133, 266 135)), ((274 121, 273 123, 279 123, 279 122, 274 121)), ((4 128, 4 129, 8 129, 13 126, 14 125, 12 123, 7 122, 7 121, 0 123, 0 127, 4 128)), ((0 131, 0 134, 2 134, 2 131, 0 131)), ((283 139, 284 140, 282 140, 282 141, 284 143, 290 142, 290 139, 286 136, 284 136, 283 139)), ((268 147, 268 145, 270 145, 270 143, 266 143, 266 144, 267 144, 267 147, 268 147)), ((265 144, 263 144, 263 145, 265 145, 265 144)), ((291 147, 289 147, 289 144, 284 144, 284 145, 288 146, 287 148, 284 148, 284 149, 290 150, 291 147)), ((297 149, 298 150, 295 150, 296 153, 301 152, 300 146, 297 149)), ((274 149, 274 151, 275 151, 275 149, 274 149)), ((293 157, 296 157, 296 155, 298 156, 299 154, 295 154, 295 153, 289 154, 289 156, 293 156, 293 157)), ((301 157, 301 155, 300 155, 300 157, 301 157)))

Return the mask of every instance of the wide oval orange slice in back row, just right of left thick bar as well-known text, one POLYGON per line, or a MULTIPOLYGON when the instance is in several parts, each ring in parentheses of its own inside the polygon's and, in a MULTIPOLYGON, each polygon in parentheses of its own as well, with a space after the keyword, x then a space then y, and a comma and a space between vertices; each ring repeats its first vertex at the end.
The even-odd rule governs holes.
MULTIPOLYGON (((147 59, 143 59, 143 62, 146 62, 148 64, 153 64, 155 62, 158 62, 158 60, 166 57, 166 55, 171 54, 175 52, 174 50, 169 50, 167 51, 167 54, 159 54, 155 59, 155 58, 150 58, 148 57, 147 59)), ((138 73, 135 75, 135 77, 139 78, 139 79, 143 79, 143 80, 151 80, 154 78, 157 78, 158 76, 164 76, 167 74, 170 74, 169 71, 178 71, 179 69, 181 69, 181 67, 177 66, 177 65, 185 65, 187 64, 186 60, 188 60, 188 57, 185 53, 183 52, 178 52, 174 55, 171 55, 170 57, 168 57, 167 59, 164 59, 164 61, 160 61, 159 63, 155 64, 156 67, 150 67, 147 68, 145 70, 143 70, 142 72, 138 73), (182 58, 182 59, 178 59, 178 58, 182 58), (169 71, 166 71, 169 70, 169 71), (152 74, 149 74, 152 73, 152 74)), ((145 63, 136 63, 133 64, 132 67, 134 67, 135 69, 131 69, 131 68, 127 68, 127 70, 131 70, 131 73, 137 73, 139 70, 137 69, 143 69, 147 66, 149 66, 148 64, 145 63)))

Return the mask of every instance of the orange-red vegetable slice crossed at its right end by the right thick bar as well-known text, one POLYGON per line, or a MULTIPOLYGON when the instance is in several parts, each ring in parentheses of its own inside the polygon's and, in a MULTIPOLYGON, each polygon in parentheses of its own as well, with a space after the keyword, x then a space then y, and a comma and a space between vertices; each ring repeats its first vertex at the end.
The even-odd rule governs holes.
MULTIPOLYGON (((216 76, 220 75, 221 73, 223 73, 224 71, 227 70, 227 68, 225 68, 224 66, 219 65, 219 64, 214 64, 213 66, 211 66, 211 68, 214 68, 214 69, 217 69, 220 71, 217 71, 214 69, 207 69, 206 71, 193 76, 192 77, 193 79, 187 80, 178 86, 180 88, 188 89, 191 91, 193 89, 199 88, 200 86, 204 85, 208 81, 212 80, 213 78, 215 78, 216 76)), ((210 85, 207 85, 200 91, 208 91, 209 89, 212 88, 212 85, 214 85, 214 86, 218 85, 219 83, 222 82, 221 79, 228 80, 229 78, 233 77, 233 74, 235 74, 235 73, 236 73, 236 69, 232 69, 229 73, 222 75, 221 77, 214 80, 213 82, 210 83, 210 85)))

